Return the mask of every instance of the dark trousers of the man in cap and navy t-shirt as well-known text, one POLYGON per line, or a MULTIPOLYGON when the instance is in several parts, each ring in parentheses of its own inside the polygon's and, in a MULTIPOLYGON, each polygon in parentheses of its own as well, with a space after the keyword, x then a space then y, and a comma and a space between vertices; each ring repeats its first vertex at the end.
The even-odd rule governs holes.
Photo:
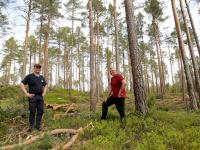
POLYGON ((29 98, 29 123, 31 127, 35 125, 35 115, 36 115, 36 128, 40 128, 41 120, 44 113, 44 100, 42 95, 35 95, 29 98), (36 114, 37 113, 37 114, 36 114))

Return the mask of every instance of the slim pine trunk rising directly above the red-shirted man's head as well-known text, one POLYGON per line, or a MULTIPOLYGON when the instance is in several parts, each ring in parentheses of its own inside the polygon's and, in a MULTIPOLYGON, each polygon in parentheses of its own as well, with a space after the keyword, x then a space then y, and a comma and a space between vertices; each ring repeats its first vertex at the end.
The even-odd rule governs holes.
POLYGON ((118 22, 117 22, 117 6, 116 0, 114 0, 114 25, 115 25, 115 62, 116 62, 116 70, 119 70, 119 49, 118 49, 118 22))

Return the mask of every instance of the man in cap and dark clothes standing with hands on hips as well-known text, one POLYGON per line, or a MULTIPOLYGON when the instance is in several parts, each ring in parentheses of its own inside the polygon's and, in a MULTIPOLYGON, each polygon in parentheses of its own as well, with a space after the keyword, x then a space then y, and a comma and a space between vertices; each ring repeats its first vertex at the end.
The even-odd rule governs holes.
POLYGON ((35 64, 33 68, 33 73, 27 75, 21 82, 20 87, 29 100, 29 131, 33 130, 33 127, 37 130, 41 130, 41 120, 44 113, 44 99, 43 97, 47 92, 47 84, 41 72, 41 65, 35 64), (27 92, 25 85, 28 85, 29 91, 27 92), (35 124, 35 114, 36 124, 35 124))

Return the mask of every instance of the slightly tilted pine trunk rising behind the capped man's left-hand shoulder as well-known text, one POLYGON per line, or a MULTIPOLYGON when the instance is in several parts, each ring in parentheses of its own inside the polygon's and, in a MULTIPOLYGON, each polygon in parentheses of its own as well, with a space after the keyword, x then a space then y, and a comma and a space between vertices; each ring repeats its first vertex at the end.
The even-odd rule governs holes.
POLYGON ((27 65, 27 48, 28 48, 28 35, 29 35, 29 26, 31 20, 31 9, 32 9, 32 0, 29 1, 28 4, 28 13, 26 18, 26 35, 24 41, 24 50, 23 50, 23 64, 22 64, 22 78, 26 75, 26 65, 27 65))

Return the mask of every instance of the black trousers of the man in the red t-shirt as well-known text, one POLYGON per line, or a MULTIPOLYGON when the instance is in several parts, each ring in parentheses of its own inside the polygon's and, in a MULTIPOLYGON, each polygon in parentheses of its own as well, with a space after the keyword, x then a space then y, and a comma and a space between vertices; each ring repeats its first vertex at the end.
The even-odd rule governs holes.
POLYGON ((107 113, 108 113, 108 107, 111 105, 115 104, 119 114, 120 114, 120 119, 125 117, 125 98, 123 97, 109 97, 106 102, 102 103, 102 116, 101 119, 106 119, 107 113))

